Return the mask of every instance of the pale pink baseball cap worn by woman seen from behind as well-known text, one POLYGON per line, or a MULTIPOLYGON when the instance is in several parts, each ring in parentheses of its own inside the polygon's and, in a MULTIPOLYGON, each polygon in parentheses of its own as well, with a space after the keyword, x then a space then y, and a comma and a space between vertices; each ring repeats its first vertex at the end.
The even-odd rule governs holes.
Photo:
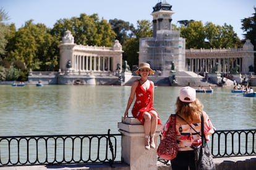
POLYGON ((194 102, 196 99, 195 89, 189 86, 182 87, 179 91, 179 100, 182 102, 194 102))

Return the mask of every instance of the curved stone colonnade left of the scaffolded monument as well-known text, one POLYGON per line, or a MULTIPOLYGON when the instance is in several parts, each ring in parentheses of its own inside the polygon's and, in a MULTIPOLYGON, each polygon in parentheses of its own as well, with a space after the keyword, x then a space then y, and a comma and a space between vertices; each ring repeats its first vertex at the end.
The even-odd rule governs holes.
POLYGON ((70 31, 62 37, 59 71, 79 75, 85 72, 122 71, 122 46, 115 40, 112 47, 83 46, 74 43, 70 31))

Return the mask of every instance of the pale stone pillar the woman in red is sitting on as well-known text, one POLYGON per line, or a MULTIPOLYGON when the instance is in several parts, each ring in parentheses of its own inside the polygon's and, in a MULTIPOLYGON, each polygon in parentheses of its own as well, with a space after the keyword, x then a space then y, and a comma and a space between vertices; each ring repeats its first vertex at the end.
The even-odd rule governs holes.
MULTIPOLYGON (((162 125, 158 125, 155 134, 156 148, 158 146, 158 136, 162 125)), ((130 170, 137 169, 157 169, 156 163, 158 155, 156 148, 145 150, 145 134, 143 125, 136 118, 129 117, 118 123, 119 132, 122 134, 122 151, 121 158, 125 163, 130 165, 130 170)))

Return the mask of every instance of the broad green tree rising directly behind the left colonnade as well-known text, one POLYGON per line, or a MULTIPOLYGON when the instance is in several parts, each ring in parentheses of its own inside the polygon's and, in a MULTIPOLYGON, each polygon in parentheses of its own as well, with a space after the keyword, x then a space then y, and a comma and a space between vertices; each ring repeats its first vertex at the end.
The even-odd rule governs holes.
POLYGON ((51 34, 61 41, 65 31, 74 36, 75 44, 88 46, 112 46, 116 33, 106 20, 99 20, 97 14, 80 14, 80 17, 64 18, 54 24, 51 34))

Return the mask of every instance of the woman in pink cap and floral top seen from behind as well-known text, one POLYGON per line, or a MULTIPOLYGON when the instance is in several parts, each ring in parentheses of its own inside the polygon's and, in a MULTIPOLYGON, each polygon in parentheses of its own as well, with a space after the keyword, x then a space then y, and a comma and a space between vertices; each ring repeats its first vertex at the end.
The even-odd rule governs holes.
MULTIPOLYGON (((180 89, 175 115, 178 152, 176 158, 171 160, 171 168, 173 170, 196 169, 195 150, 202 145, 201 134, 205 134, 205 139, 208 141, 211 134, 215 132, 215 127, 203 110, 203 104, 197 99, 194 88, 186 86, 180 89), (203 115, 203 132, 201 132, 201 115, 203 115)), ((170 127, 169 120, 170 118, 161 132, 162 139, 170 127)))

